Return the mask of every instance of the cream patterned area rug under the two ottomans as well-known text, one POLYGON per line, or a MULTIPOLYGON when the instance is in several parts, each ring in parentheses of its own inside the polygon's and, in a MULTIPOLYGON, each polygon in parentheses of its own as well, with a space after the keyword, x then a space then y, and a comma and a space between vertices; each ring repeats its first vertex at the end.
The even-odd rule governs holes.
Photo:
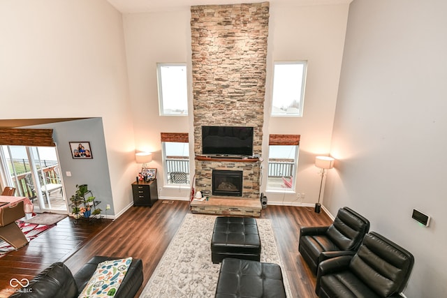
MULTIPOLYGON (((214 297, 221 267, 211 262, 215 218, 205 214, 186 214, 140 297, 214 297)), ((292 297, 272 224, 269 219, 256 218, 256 222, 261 238, 261 262, 281 266, 287 297, 292 297)))

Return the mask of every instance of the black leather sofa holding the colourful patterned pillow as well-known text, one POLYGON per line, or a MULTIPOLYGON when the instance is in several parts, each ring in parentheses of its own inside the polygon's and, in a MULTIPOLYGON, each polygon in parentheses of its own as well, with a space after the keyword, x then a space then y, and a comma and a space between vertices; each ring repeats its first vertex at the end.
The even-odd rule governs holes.
MULTIPOLYGON (((56 262, 43 270, 34 277, 27 288, 22 292, 15 292, 10 297, 27 297, 27 298, 75 298, 85 288, 89 279, 94 274, 96 267, 100 262, 106 260, 115 260, 119 258, 110 258, 96 256, 91 258, 74 276, 70 269, 62 262, 56 262), (27 290, 28 289, 28 290, 27 290)), ((115 297, 117 298, 133 298, 138 292, 143 280, 142 261, 133 259, 131 265, 124 276, 124 280, 115 297)))

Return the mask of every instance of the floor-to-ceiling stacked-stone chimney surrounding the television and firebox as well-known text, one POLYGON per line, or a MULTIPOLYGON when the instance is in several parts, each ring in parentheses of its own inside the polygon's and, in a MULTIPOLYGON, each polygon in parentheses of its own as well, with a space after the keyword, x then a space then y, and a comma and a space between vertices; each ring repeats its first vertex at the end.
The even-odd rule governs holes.
POLYGON ((259 199, 260 163, 200 158, 201 133, 202 126, 251 126, 253 154, 261 156, 268 19, 268 2, 191 6, 196 189, 204 195, 213 195, 213 170, 240 171, 240 198, 259 199))

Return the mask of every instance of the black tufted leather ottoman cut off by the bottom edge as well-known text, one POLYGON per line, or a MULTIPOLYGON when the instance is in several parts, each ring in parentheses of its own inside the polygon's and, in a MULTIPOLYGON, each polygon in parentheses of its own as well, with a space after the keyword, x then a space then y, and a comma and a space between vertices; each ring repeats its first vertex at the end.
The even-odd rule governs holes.
POLYGON ((226 258, 222 261, 215 297, 285 298, 281 267, 272 263, 226 258))

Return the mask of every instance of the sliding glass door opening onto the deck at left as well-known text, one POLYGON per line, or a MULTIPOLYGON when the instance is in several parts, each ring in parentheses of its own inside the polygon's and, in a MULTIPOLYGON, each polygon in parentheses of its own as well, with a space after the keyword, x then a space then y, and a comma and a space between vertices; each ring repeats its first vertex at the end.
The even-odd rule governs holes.
POLYGON ((55 147, 1 146, 2 181, 36 211, 67 211, 55 147))

